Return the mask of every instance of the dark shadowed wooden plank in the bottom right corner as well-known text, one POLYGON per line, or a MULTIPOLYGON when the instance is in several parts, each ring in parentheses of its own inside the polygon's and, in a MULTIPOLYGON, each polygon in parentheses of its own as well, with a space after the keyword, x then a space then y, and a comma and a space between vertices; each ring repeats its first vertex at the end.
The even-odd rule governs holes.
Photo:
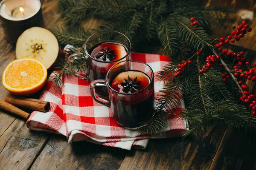
POLYGON ((211 170, 255 170, 256 135, 255 130, 233 130, 229 138, 221 145, 219 158, 213 161, 211 170))

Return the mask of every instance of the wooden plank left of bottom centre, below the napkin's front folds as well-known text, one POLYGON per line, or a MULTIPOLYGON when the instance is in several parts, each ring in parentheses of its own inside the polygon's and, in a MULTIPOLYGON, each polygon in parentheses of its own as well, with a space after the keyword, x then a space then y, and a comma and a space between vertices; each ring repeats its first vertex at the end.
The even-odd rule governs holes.
POLYGON ((54 136, 32 165, 32 170, 85 169, 115 170, 131 151, 89 142, 68 144, 66 137, 54 136), (46 163, 47 162, 47 163, 46 163))

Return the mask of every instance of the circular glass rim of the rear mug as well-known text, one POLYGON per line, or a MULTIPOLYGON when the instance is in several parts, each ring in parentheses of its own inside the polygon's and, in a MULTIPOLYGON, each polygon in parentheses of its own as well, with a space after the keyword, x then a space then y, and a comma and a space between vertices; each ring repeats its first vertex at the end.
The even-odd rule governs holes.
POLYGON ((127 56, 130 55, 130 53, 131 53, 131 41, 129 40, 129 38, 128 38, 125 34, 122 34, 121 32, 118 32, 118 31, 112 31, 112 30, 110 30, 110 31, 99 31, 99 32, 96 32, 96 33, 92 34, 92 35, 91 35, 90 37, 88 37, 87 40, 84 42, 84 52, 86 53, 86 56, 89 56, 91 59, 93 59, 93 60, 96 61, 96 62, 102 62, 102 63, 119 62, 119 61, 121 61, 122 59, 124 59, 124 58, 126 58, 127 56), (128 48, 129 48, 129 49, 128 49, 127 54, 126 54, 124 57, 122 57, 121 59, 118 59, 118 60, 114 60, 114 61, 99 61, 99 60, 93 58, 93 57, 88 53, 88 51, 87 51, 87 49, 86 49, 86 44, 88 43, 88 41, 90 40, 90 38, 93 37, 93 36, 95 36, 96 34, 104 33, 104 32, 114 32, 114 33, 118 33, 118 34, 121 34, 122 36, 124 36, 124 37, 128 40, 128 44, 129 44, 129 47, 128 47, 128 48))

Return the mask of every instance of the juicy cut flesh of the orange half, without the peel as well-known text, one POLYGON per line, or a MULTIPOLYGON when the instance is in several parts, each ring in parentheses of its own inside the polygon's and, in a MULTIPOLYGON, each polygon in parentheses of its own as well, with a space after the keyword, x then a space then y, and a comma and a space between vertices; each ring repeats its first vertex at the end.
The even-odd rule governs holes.
POLYGON ((44 77, 42 65, 35 61, 14 62, 6 70, 5 82, 12 88, 30 88, 44 77))

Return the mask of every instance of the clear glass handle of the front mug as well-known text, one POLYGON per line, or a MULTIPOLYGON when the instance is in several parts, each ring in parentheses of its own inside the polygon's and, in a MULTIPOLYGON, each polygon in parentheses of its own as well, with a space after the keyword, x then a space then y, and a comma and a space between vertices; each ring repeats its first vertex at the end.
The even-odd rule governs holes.
MULTIPOLYGON (((95 87, 96 86, 106 86, 106 83, 105 83, 105 80, 103 79, 99 79, 99 80, 94 80, 93 82, 90 83, 90 93, 91 93, 91 96, 92 98, 102 104, 102 105, 105 105, 107 107, 110 108, 110 103, 108 100, 105 100, 105 99, 102 99, 100 97, 96 97, 96 93, 95 93, 95 87)), ((106 86, 107 87, 107 86, 106 86)), ((108 87, 107 87, 108 88, 108 87)))

